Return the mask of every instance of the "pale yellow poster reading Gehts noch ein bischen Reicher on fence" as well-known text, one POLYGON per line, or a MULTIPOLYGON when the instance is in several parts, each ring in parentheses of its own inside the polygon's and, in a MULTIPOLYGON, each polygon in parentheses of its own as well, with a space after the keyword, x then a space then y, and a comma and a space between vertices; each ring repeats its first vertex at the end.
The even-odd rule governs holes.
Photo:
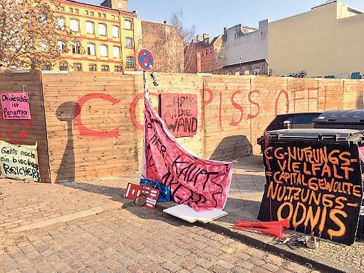
POLYGON ((0 170, 4 177, 41 181, 36 145, 12 145, 0 140, 0 170))

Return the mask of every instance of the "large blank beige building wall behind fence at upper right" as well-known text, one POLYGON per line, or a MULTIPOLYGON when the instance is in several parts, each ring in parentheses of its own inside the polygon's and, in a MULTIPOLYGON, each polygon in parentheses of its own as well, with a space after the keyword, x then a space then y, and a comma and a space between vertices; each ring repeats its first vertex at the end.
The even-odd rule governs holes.
POLYGON ((269 68, 274 75, 308 76, 364 71, 364 14, 334 2, 269 24, 269 68))

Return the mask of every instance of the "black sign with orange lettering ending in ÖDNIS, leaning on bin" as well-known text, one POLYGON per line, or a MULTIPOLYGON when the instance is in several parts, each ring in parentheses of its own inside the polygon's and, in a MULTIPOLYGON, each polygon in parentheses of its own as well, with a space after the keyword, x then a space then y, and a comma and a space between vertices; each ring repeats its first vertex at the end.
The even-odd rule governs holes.
POLYGON ((358 145, 269 143, 258 220, 353 244, 363 199, 358 145))

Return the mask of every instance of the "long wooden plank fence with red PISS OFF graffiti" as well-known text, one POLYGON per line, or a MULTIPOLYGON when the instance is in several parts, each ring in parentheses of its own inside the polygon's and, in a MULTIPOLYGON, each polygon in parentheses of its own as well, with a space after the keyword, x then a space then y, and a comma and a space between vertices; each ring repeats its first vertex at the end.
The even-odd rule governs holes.
MULTIPOLYGON (((157 75, 150 84, 155 108, 160 93, 197 95, 198 128, 178 138, 192 153, 234 160, 259 152, 258 138, 281 113, 360 109, 364 81, 312 78, 157 75)), ((45 182, 118 177, 140 170, 142 75, 120 73, 0 74, 0 93, 26 85, 32 120, 2 120, 9 143, 38 142, 45 182)))

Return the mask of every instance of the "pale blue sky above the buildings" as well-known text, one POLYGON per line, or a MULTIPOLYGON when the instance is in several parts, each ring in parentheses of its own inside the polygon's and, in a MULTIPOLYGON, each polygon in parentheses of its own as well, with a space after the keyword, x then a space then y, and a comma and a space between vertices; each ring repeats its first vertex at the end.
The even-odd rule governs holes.
MULTIPOLYGON (((100 0, 78 0, 99 5, 100 0)), ((326 0, 129 0, 129 11, 139 19, 165 21, 183 11, 185 28, 196 27, 196 34, 223 34, 224 27, 237 24, 258 27, 259 21, 276 21, 310 11, 326 0)), ((364 11, 363 0, 345 0, 349 6, 364 11)))

